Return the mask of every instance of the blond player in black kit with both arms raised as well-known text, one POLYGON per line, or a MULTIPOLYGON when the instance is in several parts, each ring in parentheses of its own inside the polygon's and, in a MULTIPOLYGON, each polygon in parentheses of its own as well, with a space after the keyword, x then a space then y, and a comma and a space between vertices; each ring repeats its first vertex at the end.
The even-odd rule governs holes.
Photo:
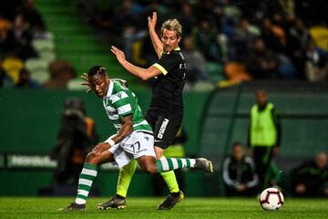
MULTIPOLYGON (((183 117, 182 90, 186 78, 186 63, 179 49, 182 27, 177 19, 165 21, 160 29, 160 38, 156 33, 157 14, 148 18, 149 35, 159 60, 149 68, 139 68, 129 63, 124 53, 117 47, 111 51, 118 62, 129 73, 147 80, 153 78, 152 98, 145 119, 151 125, 155 137, 157 159, 163 157, 163 151, 174 140, 183 117)), ((211 165, 211 163, 210 163, 211 165)), ((123 208, 126 206, 126 195, 136 164, 124 167, 118 176, 117 194, 108 202, 98 204, 99 209, 123 208)), ((212 167, 211 167, 212 170, 212 167)), ((174 172, 161 174, 169 187, 169 196, 159 204, 159 210, 169 210, 183 198, 174 172)))

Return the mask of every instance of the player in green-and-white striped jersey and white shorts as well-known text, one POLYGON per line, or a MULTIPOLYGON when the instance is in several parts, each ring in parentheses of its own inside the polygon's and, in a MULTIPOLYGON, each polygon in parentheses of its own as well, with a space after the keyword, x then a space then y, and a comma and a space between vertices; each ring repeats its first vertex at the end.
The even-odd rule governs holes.
MULTIPOLYGON (((87 196, 94 179, 97 166, 106 162, 116 162, 118 168, 136 160, 141 170, 149 173, 168 172, 181 168, 197 168, 213 172, 212 163, 206 159, 162 158, 156 160, 154 136, 149 123, 143 118, 136 95, 120 83, 108 78, 101 66, 90 68, 83 76, 90 90, 103 99, 109 120, 118 132, 108 140, 98 143, 87 154, 85 165, 78 180, 77 198, 74 203, 60 209, 62 211, 84 210, 87 196)), ((122 207, 125 203, 121 204, 122 207)))

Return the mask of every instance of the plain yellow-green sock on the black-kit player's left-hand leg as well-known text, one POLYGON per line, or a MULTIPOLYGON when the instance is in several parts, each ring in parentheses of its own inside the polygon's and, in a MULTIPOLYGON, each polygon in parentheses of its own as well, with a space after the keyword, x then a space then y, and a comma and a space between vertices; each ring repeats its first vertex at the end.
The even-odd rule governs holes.
POLYGON ((128 165, 119 170, 117 194, 122 197, 127 197, 128 186, 131 182, 132 176, 137 168, 137 161, 131 161, 128 165))

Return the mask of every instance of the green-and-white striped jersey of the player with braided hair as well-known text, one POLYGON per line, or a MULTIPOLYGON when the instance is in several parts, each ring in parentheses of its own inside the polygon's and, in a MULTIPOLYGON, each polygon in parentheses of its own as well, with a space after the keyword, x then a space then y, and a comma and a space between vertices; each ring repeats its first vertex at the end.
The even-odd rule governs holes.
POLYGON ((115 128, 120 130, 120 120, 131 114, 133 130, 148 130, 152 132, 149 123, 144 119, 142 111, 138 106, 136 95, 120 83, 110 80, 107 95, 103 98, 104 108, 115 128))

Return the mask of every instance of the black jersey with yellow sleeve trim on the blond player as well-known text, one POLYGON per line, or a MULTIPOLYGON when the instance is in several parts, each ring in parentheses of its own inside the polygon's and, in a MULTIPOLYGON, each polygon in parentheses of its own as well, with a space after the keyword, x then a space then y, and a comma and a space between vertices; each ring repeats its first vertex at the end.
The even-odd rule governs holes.
POLYGON ((179 47, 163 53, 154 66, 162 74, 154 78, 149 110, 164 115, 183 115, 182 90, 186 78, 186 62, 179 47))

